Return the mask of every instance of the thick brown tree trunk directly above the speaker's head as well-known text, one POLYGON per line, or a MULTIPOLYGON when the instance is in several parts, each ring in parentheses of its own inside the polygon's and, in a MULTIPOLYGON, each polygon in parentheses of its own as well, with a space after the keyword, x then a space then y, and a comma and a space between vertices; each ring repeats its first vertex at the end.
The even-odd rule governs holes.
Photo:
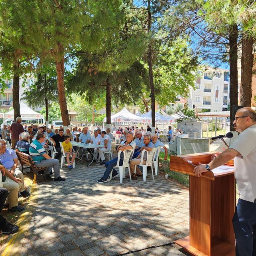
POLYGON ((240 105, 250 107, 252 102, 253 39, 243 36, 241 56, 240 105))

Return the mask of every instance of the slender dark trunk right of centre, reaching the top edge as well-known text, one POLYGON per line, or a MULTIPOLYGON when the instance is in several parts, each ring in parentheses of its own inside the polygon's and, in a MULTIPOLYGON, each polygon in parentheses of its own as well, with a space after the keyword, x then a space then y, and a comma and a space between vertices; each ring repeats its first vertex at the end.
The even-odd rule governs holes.
MULTIPOLYGON (((151 6, 150 0, 148 0, 148 33, 151 31, 151 6)), ((156 114, 155 114, 155 88, 154 88, 154 80, 153 80, 153 69, 152 69, 152 46, 151 42, 148 44, 148 70, 149 70, 149 84, 150 84, 150 92, 151 92, 151 119, 152 119, 152 134, 155 134, 156 127, 156 114)))

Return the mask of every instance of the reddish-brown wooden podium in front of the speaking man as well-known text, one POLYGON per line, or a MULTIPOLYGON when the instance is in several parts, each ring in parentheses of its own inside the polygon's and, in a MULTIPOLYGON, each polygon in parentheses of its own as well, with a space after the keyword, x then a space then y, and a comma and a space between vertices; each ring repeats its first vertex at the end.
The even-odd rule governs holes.
MULTIPOLYGON (((232 218, 236 205, 234 170, 194 174, 213 152, 170 157, 170 170, 189 174, 190 235, 175 243, 195 256, 235 256, 232 218)), ((230 161, 228 164, 233 165, 230 161)), ((225 169, 225 168, 224 168, 225 169)))

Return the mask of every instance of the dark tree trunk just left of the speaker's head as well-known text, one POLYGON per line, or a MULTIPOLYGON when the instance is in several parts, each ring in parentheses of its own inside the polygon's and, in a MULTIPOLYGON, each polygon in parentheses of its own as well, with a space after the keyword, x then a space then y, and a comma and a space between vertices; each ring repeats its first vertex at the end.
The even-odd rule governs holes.
MULTIPOLYGON (((230 117, 234 116, 235 111, 233 106, 238 105, 238 70, 237 70, 237 40, 238 27, 237 25, 230 26, 229 32, 229 70, 230 70, 230 117)), ((235 131, 233 121, 230 120, 230 131, 235 131)))

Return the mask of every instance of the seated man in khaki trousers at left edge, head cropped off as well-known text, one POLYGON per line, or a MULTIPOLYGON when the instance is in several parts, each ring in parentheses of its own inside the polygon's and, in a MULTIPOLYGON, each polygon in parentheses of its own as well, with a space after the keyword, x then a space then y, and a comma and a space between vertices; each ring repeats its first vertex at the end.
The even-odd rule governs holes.
POLYGON ((25 210, 24 207, 18 205, 18 192, 22 186, 22 181, 19 178, 15 178, 2 165, 0 165, 0 170, 5 174, 2 176, 3 187, 9 192, 5 202, 6 208, 8 208, 9 212, 21 212, 25 210))

